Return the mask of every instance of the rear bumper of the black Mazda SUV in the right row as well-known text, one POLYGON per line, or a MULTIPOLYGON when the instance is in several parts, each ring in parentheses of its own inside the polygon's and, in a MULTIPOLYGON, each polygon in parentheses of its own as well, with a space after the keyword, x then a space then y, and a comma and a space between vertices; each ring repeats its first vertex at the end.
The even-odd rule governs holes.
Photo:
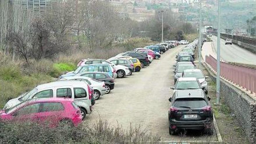
POLYGON ((202 121, 169 121, 169 127, 175 127, 178 129, 204 129, 212 125, 213 120, 202 120, 202 121))

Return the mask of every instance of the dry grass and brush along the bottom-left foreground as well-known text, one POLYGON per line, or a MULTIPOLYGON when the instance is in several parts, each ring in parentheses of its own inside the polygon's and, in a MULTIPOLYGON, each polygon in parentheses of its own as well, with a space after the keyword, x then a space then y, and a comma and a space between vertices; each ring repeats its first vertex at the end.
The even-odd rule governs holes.
MULTIPOLYGON (((43 124, 45 125, 45 124, 43 124)), ((0 122, 0 143, 157 143, 154 136, 140 126, 130 125, 128 130, 107 121, 78 127, 61 125, 48 128, 34 122, 0 122)))

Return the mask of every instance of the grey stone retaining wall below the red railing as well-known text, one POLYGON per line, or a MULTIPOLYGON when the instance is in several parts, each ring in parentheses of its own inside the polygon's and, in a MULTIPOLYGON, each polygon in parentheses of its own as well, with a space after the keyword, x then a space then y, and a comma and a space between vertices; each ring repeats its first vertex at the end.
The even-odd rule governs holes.
MULTIPOLYGON (((209 72, 209 77, 216 81, 216 75, 211 66, 207 63, 203 65, 209 72)), ((235 114, 249 141, 256 143, 256 100, 223 79, 220 81, 220 95, 235 114)))

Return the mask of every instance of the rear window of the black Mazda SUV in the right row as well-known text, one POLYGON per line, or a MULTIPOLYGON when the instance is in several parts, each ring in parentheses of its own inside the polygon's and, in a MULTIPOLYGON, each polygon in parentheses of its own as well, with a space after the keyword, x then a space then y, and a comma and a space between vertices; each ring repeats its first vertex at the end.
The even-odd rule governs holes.
POLYGON ((207 102, 203 98, 181 98, 176 99, 173 106, 177 108, 196 109, 207 106, 207 102))

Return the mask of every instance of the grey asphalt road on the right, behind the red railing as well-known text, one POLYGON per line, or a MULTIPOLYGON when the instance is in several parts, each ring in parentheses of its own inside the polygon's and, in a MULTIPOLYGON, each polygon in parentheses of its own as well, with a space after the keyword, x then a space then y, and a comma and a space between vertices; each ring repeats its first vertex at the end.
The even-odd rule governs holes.
MULTIPOLYGON (((213 51, 217 52, 217 37, 212 36, 214 44, 213 51)), ((208 47, 209 49, 211 47, 208 47)), ((243 49, 237 45, 225 45, 225 40, 221 39, 221 60, 235 63, 256 65, 256 54, 243 49)))

